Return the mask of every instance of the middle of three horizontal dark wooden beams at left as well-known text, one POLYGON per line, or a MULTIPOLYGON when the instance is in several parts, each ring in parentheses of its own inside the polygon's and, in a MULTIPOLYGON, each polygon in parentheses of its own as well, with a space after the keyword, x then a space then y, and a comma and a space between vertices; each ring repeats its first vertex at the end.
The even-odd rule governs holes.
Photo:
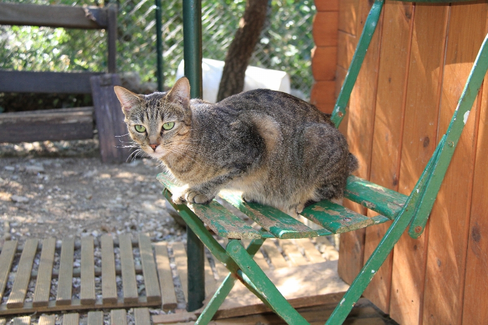
POLYGON ((94 72, 32 72, 0 70, 0 92, 91 93, 94 72))

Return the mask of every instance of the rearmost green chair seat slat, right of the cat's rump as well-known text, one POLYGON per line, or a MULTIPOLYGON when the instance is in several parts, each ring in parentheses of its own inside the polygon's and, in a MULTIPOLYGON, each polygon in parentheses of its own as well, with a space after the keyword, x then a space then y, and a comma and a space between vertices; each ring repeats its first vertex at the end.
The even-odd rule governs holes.
POLYGON ((393 220, 402 211, 408 196, 365 179, 349 176, 344 197, 393 220))

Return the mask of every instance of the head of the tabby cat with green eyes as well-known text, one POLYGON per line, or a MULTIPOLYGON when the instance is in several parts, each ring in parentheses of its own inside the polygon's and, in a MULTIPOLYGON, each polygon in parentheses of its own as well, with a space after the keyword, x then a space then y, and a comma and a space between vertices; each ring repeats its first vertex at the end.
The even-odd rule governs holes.
POLYGON ((190 135, 190 82, 180 78, 168 92, 138 95, 115 86, 129 135, 153 158, 164 158, 190 135))

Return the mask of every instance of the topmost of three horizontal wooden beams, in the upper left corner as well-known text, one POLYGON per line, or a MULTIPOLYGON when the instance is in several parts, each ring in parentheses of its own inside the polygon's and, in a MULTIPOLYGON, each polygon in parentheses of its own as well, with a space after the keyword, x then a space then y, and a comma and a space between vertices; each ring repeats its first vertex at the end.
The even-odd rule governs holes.
POLYGON ((81 29, 108 27, 107 9, 59 5, 0 4, 0 24, 81 29))

